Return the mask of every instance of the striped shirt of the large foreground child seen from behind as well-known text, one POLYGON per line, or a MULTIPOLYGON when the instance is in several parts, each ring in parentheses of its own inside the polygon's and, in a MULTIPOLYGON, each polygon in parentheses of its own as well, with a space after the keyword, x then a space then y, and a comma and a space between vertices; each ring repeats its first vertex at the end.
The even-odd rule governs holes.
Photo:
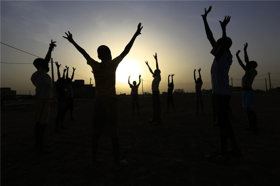
POLYGON ((107 96, 117 98, 116 94, 116 70, 123 60, 121 56, 101 63, 91 57, 87 58, 87 64, 91 66, 95 79, 95 96, 107 96))

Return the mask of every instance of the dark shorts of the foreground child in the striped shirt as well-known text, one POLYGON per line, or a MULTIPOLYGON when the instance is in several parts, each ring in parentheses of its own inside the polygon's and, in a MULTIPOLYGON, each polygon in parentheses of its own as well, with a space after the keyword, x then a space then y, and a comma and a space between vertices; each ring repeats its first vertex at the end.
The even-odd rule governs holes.
POLYGON ((117 98, 97 96, 93 110, 93 134, 118 137, 117 98))

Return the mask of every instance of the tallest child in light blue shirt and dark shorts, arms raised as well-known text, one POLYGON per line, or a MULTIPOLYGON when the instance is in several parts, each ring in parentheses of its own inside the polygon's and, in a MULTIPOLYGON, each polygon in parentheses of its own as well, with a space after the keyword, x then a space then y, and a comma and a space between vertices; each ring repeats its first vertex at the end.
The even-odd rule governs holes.
POLYGON ((228 116, 228 105, 231 99, 231 88, 228 83, 228 72, 232 63, 232 55, 229 50, 232 41, 226 37, 226 25, 229 23, 229 16, 219 21, 222 27, 222 38, 217 42, 213 37, 212 31, 207 23, 206 16, 211 11, 212 6, 201 15, 203 18, 207 39, 211 43, 213 49, 211 54, 215 56, 211 67, 211 83, 212 83, 212 103, 214 112, 214 125, 220 128, 221 154, 207 155, 205 159, 217 163, 229 163, 229 154, 235 157, 242 157, 236 143, 235 134, 231 126, 228 116), (227 138, 229 137, 233 150, 227 151, 227 138))

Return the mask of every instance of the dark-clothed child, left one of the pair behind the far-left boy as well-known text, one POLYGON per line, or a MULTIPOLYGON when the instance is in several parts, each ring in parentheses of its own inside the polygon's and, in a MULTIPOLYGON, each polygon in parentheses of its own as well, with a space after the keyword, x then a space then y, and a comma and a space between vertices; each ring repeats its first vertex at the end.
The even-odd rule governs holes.
POLYGON ((58 92, 58 99, 57 99, 57 115, 55 118, 55 131, 59 132, 60 129, 66 129, 65 126, 63 126, 64 121, 64 111, 65 111, 65 105, 66 105, 66 95, 67 95, 67 89, 66 89, 66 81, 65 81, 65 71, 63 70, 63 76, 60 77, 59 72, 59 65, 57 61, 55 61, 55 65, 57 67, 57 81, 56 81, 56 90, 58 92), (60 123, 60 125, 59 125, 60 123))

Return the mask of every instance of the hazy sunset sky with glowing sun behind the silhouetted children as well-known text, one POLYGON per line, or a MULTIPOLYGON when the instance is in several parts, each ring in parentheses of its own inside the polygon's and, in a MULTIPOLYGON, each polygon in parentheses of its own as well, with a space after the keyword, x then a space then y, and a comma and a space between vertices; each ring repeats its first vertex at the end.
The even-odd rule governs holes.
MULTIPOLYGON (((113 58, 119 56, 141 22, 142 34, 136 38, 130 52, 117 68, 117 94, 130 94, 128 76, 131 75, 132 83, 134 80, 138 82, 140 74, 143 91, 152 93, 153 78, 145 61, 155 70, 155 52, 161 70, 161 93, 167 92, 169 74, 175 74, 174 89, 195 92, 194 69, 198 68, 201 68, 202 88, 210 89, 210 69, 214 57, 210 54, 212 47, 201 17, 204 8, 208 9, 209 6, 212 6, 212 10, 207 20, 216 40, 222 37, 219 20, 231 16, 226 26, 226 34, 233 42, 230 48, 233 55, 230 85, 232 78, 233 86, 241 86, 245 71, 235 54, 241 50, 239 56, 245 63, 243 48, 247 42, 249 60, 258 63, 258 75, 252 88, 265 90, 265 78, 269 88, 268 72, 273 88, 280 87, 280 1, 2 0, 0 86, 10 87, 17 94, 30 92, 34 95, 35 86, 30 77, 36 68, 32 63, 37 58, 35 56, 45 57, 51 40, 57 42, 52 52, 53 61, 58 61, 62 67, 69 66, 69 76, 72 75, 72 67, 76 68, 74 80, 84 79, 85 84, 95 85, 91 67, 86 64, 85 58, 62 36, 70 31, 75 42, 91 58, 101 62, 97 57, 97 48, 107 45, 113 58)), ((55 64, 54 80, 57 80, 55 64)), ((139 94, 142 94, 141 89, 138 90, 139 94)))

